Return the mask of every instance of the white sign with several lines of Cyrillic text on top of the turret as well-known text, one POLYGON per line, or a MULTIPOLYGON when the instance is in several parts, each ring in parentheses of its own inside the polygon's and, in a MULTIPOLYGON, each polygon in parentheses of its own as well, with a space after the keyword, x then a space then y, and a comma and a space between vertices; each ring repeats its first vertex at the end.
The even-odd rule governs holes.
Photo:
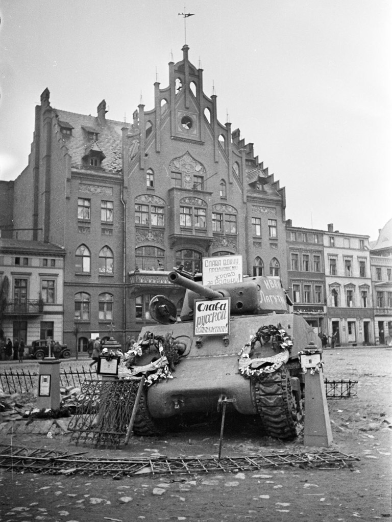
POLYGON ((203 257, 202 284, 243 282, 243 256, 203 257))

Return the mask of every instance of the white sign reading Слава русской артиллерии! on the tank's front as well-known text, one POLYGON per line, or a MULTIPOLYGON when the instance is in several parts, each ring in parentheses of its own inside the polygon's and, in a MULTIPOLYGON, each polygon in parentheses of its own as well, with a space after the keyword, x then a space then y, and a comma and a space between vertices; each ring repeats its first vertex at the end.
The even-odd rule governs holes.
POLYGON ((230 298, 194 301, 193 335, 228 335, 230 298))

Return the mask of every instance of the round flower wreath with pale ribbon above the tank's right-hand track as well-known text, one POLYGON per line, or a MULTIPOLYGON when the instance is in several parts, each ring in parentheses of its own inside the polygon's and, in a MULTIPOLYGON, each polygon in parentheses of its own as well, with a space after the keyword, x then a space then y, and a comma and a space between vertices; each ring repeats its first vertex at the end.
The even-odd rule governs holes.
POLYGON ((249 378, 264 373, 273 373, 289 360, 292 347, 293 341, 281 324, 261 326, 255 334, 250 336, 249 342, 238 353, 238 370, 249 378), (279 353, 271 357, 252 357, 256 351, 257 342, 260 343, 261 348, 269 344, 274 351, 279 350, 279 353))

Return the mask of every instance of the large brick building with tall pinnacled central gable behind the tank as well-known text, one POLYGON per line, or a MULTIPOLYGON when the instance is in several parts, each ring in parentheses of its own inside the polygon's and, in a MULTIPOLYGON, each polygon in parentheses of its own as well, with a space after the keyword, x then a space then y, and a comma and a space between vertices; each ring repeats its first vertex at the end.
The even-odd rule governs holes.
POLYGON ((13 227, 64 248, 64 341, 73 346, 76 328, 79 350, 112 321, 119 340, 139 333, 152 295, 180 306, 166 275, 198 271, 204 256, 242 254, 245 273, 287 287, 284 188, 217 120, 188 51, 132 124, 109 120, 105 100, 96 116, 55 109, 48 89, 36 107, 28 166, 10 182, 13 227))

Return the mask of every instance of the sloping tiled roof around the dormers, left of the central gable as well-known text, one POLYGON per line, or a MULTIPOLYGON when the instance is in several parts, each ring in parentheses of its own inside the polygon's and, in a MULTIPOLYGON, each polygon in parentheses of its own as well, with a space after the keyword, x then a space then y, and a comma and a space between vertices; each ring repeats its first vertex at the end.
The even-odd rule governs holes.
POLYGON ((57 116, 57 124, 67 128, 72 127, 72 135, 63 137, 63 141, 72 157, 72 168, 84 169, 86 167, 83 157, 86 150, 97 148, 102 151, 105 158, 102 159, 100 170, 108 173, 120 174, 122 172, 122 132, 126 127, 134 132, 132 124, 105 120, 103 125, 97 116, 77 114, 74 112, 53 109, 57 116), (70 127, 68 127, 70 126, 70 127), (96 143, 88 139, 88 133, 97 133, 96 143), (95 143, 95 145, 94 145, 95 143))

